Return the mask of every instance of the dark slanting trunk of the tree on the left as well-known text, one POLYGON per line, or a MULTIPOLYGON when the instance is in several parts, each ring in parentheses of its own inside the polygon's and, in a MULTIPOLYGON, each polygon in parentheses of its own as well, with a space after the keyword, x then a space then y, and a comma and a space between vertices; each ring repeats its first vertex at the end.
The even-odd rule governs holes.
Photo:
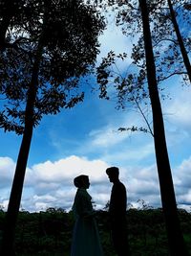
POLYGON ((28 100, 25 111, 25 129, 21 142, 20 151, 17 158, 15 174, 11 187, 11 197, 9 201, 8 211, 6 213, 6 220, 3 232, 3 240, 1 245, 2 256, 13 256, 14 252, 14 235, 16 221, 19 213, 20 201, 22 196, 24 178, 26 174, 27 162, 32 142, 33 129, 33 109, 36 98, 37 84, 38 84, 38 70, 40 57, 42 54, 42 46, 38 48, 36 59, 33 64, 32 81, 28 91, 28 100))

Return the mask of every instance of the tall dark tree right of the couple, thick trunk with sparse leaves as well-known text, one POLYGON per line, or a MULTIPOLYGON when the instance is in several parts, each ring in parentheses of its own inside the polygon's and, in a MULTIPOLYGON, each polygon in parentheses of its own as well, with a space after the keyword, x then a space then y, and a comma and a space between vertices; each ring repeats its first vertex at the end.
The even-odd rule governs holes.
MULTIPOLYGON (((134 3, 135 2, 136 1, 134 1, 134 3)), ((142 35, 140 35, 140 38, 138 39, 138 45, 133 46, 132 58, 133 64, 135 64, 135 66, 133 68, 129 66, 128 72, 124 76, 121 76, 120 74, 118 76, 115 76, 114 73, 112 73, 111 69, 109 70, 109 67, 111 65, 115 65, 115 58, 124 59, 126 58, 126 55, 123 54, 116 56, 115 53, 110 52, 107 58, 103 58, 103 61, 97 68, 97 81, 100 83, 100 97, 109 99, 107 93, 107 86, 111 78, 114 81, 114 86, 116 86, 117 88, 118 104, 122 105, 122 107, 124 106, 125 101, 131 103, 136 102, 139 104, 142 99, 148 99, 149 96, 153 117, 153 131, 149 131, 154 136, 161 202, 166 222, 169 249, 171 255, 173 256, 188 255, 180 230, 180 220, 178 218, 177 203, 175 198, 173 179, 171 175, 170 162, 168 158, 163 117, 159 100, 158 85, 161 78, 159 78, 158 80, 157 75, 158 72, 161 71, 159 70, 159 68, 161 67, 162 69, 162 66, 158 65, 159 53, 157 57, 154 55, 152 35, 149 24, 149 19, 152 18, 152 16, 149 16, 148 14, 149 12, 147 2, 145 0, 139 0, 138 2, 139 9, 135 9, 128 1, 127 3, 125 3, 122 11, 119 12, 120 14, 124 14, 124 19, 122 19, 122 21, 125 21, 126 23, 128 22, 127 27, 130 30, 127 29, 126 34, 135 33, 135 31, 139 34, 142 33, 142 35), (131 11, 128 12, 128 14, 125 10, 126 5, 127 8, 129 8, 131 11), (140 12, 138 12, 138 10, 140 12), (131 28, 133 23, 132 18, 135 17, 135 13, 132 12, 135 12, 138 18, 138 27, 134 27, 133 29, 131 28), (131 14, 133 16, 131 16, 131 14), (157 71, 156 63, 158 65, 157 71), (147 88, 145 88, 144 86, 146 82, 145 79, 147 79, 148 82, 148 91, 147 88)), ((121 17, 119 17, 119 19, 121 20, 121 17)), ((155 30, 156 28, 154 26, 153 31, 155 32, 155 30)), ((156 36, 154 36, 154 38, 156 39, 156 36)), ((176 58, 173 59, 175 60, 176 58)), ((142 131, 144 131, 143 128, 142 131)))

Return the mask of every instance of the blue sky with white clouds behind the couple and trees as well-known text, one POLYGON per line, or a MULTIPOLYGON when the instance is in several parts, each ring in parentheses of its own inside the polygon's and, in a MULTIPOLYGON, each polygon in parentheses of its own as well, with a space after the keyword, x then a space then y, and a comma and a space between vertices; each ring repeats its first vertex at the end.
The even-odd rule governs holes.
MULTIPOLYGON (((131 42, 115 25, 100 35, 100 55, 131 49, 131 42)), ((125 66, 121 66, 125 69, 125 66)), ((163 84, 169 98, 161 101, 166 142, 178 207, 191 210, 191 87, 174 77, 163 84)), ((30 212, 61 207, 70 211, 76 188, 74 177, 89 175, 88 190, 95 209, 110 199, 112 183, 106 168, 117 166, 127 189, 129 207, 161 207, 153 137, 143 132, 120 132, 145 127, 138 110, 117 110, 115 100, 98 98, 87 90, 85 100, 58 115, 45 116, 34 129, 21 209, 30 212)), ((0 129, 0 207, 7 208, 21 136, 0 129)))

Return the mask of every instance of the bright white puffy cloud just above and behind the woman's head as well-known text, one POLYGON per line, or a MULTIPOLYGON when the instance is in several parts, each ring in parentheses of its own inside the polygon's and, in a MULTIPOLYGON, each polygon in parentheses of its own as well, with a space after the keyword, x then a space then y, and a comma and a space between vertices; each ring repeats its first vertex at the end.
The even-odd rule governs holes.
POLYGON ((31 182, 33 179, 32 185, 37 183, 39 187, 43 187, 43 182, 48 182, 50 187, 54 187, 56 182, 73 184, 73 178, 81 174, 90 175, 96 181, 103 177, 106 166, 100 160, 89 161, 86 157, 71 155, 55 162, 46 161, 33 165, 27 181, 31 182))

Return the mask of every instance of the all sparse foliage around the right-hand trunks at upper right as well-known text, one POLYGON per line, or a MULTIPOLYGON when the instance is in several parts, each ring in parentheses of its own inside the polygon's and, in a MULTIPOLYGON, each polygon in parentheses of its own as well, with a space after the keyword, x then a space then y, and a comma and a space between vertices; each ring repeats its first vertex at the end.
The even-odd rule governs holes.
MULTIPOLYGON (((191 25, 191 19, 188 2, 175 0, 173 1, 173 8, 180 26, 183 44, 189 54, 191 44, 188 28, 191 25)), ((124 35, 131 39, 132 52, 131 56, 128 56, 129 61, 125 62, 125 71, 120 68, 120 65, 124 66, 122 61, 124 62, 127 55, 116 55, 111 51, 107 57, 102 58, 102 62, 97 68, 100 98, 111 99, 111 92, 113 98, 116 98, 114 90, 111 89, 115 88, 117 91, 117 107, 125 108, 130 104, 138 107, 141 102, 148 105, 146 59, 138 1, 112 0, 107 1, 107 4, 114 7, 117 26, 121 28, 124 35), (118 64, 119 60, 120 65, 118 64)), ((164 81, 173 75, 181 75, 182 81, 188 81, 180 52, 180 44, 173 27, 168 5, 165 1, 156 0, 147 1, 147 4, 158 85, 160 81, 164 81)), ((165 99, 168 95, 164 95, 162 91, 163 88, 159 87, 160 98, 165 99)), ((151 130, 149 131, 151 132, 151 130)))

